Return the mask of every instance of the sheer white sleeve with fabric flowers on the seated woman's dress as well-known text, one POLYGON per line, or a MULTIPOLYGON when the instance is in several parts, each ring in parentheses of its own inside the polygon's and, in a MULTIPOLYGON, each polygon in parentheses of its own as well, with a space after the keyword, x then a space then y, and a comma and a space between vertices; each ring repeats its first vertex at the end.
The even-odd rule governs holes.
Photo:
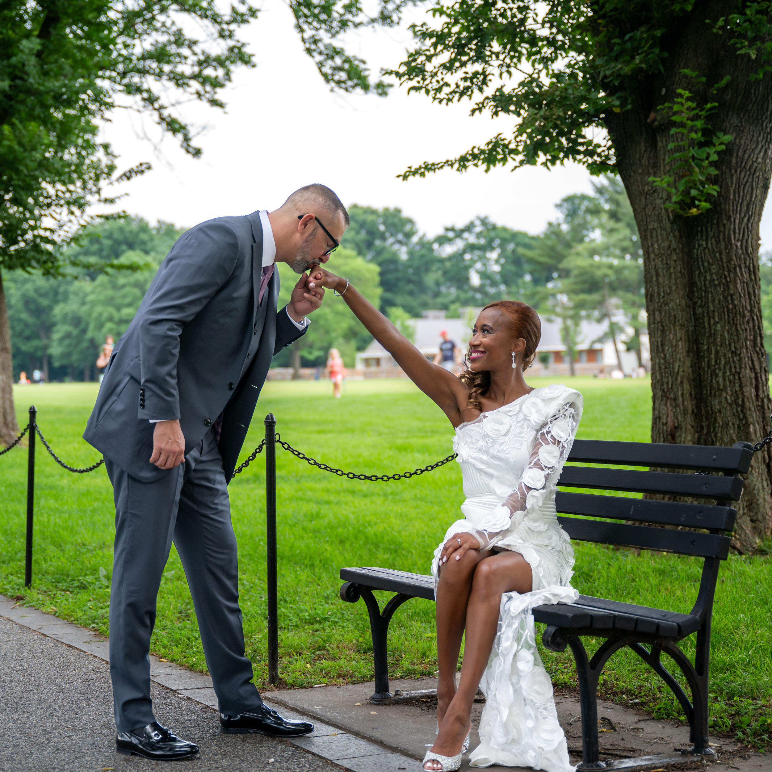
POLYGON ((504 530, 475 529, 481 550, 490 550, 503 533, 517 527, 538 510, 544 497, 554 489, 571 451, 578 424, 577 411, 570 402, 561 405, 537 432, 528 466, 516 488, 496 508, 496 515, 510 520, 504 530))

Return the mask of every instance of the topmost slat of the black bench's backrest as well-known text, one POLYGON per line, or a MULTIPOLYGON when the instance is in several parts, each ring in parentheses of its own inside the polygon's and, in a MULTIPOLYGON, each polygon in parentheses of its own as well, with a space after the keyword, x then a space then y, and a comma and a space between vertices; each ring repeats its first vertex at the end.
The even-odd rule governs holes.
POLYGON ((713 448, 709 445, 577 439, 568 460, 587 464, 659 466, 745 474, 753 460, 753 448, 747 442, 738 442, 733 448, 713 448))

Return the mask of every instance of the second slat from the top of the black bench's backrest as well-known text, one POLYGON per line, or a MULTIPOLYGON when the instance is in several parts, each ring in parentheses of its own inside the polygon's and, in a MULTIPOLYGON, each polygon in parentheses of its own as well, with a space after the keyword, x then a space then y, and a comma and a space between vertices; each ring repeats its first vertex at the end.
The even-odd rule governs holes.
POLYGON ((604 469, 599 466, 565 466, 557 484, 569 488, 625 490, 630 493, 662 493, 733 501, 739 501, 743 493, 743 480, 740 477, 642 472, 636 469, 604 469))

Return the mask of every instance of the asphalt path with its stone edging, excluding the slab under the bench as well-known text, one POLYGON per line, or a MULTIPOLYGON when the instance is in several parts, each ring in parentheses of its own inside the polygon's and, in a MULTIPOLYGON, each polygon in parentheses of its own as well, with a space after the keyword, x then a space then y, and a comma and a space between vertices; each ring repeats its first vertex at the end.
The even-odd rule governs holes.
MULTIPOLYGON (((156 766, 115 752, 107 641, 0 595, 0 772, 103 772, 156 766)), ((315 720, 292 742, 219 730, 208 676, 151 657, 157 720, 201 747, 183 769, 223 772, 420 770, 414 759, 315 720)), ((284 716, 305 717, 278 705, 284 716)), ((178 765, 174 765, 177 769, 178 765)))

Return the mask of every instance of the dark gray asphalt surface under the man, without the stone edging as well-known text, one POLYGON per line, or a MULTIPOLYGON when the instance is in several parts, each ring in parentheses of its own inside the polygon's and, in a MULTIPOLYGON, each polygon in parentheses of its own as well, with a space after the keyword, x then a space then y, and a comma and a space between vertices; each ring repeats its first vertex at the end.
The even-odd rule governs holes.
MULTIPOLYGON (((136 770, 152 764, 115 752, 106 662, 0 619, 0 669, 3 772, 136 770)), ((151 691, 158 720, 200 744, 198 758, 185 762, 191 770, 330 770, 327 761, 272 737, 222 734, 211 708, 157 684, 151 691)))

